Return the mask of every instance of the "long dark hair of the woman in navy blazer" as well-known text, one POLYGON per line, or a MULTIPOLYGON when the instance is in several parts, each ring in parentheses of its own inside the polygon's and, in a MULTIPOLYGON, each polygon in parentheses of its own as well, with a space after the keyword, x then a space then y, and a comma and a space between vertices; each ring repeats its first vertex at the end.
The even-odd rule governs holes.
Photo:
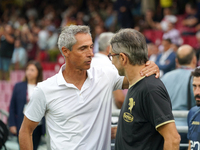
MULTIPOLYGON (((29 61, 26 65, 26 69, 28 68, 29 65, 34 65, 38 70, 38 76, 37 76, 36 84, 38 82, 41 82, 43 80, 43 69, 42 69, 40 62, 35 61, 35 60, 29 61)), ((24 78, 24 81, 28 81, 26 76, 24 78)))

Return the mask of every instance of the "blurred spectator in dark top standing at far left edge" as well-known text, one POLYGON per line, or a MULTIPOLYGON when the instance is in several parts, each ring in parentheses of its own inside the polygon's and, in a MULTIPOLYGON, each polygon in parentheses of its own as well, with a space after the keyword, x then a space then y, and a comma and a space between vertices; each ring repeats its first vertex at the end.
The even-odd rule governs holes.
POLYGON ((0 27, 0 38, 0 80, 7 80, 15 41, 13 27, 10 24, 0 27))

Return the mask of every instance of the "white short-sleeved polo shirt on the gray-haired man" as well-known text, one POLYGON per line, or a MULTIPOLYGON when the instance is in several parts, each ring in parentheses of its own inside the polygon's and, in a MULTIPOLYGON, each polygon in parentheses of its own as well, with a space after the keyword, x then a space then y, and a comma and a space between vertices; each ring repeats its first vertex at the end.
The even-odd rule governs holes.
POLYGON ((122 88, 124 77, 91 67, 79 90, 64 80, 64 67, 37 85, 26 117, 39 122, 45 115, 52 150, 109 150, 112 91, 122 88))

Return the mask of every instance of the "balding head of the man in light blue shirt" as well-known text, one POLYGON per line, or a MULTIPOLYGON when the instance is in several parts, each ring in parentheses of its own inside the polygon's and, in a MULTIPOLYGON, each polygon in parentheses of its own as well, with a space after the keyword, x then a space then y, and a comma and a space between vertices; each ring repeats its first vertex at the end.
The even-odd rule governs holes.
POLYGON ((180 65, 190 65, 195 57, 195 52, 190 45, 182 45, 179 47, 176 57, 180 65))

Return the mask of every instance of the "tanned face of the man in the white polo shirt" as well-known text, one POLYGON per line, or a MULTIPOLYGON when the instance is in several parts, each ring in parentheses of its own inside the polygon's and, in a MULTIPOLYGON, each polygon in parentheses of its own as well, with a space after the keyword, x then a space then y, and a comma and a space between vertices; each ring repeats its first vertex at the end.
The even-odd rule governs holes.
POLYGON ((85 33, 78 33, 75 38, 77 42, 68 50, 67 63, 75 69, 88 70, 94 56, 92 38, 85 33))

